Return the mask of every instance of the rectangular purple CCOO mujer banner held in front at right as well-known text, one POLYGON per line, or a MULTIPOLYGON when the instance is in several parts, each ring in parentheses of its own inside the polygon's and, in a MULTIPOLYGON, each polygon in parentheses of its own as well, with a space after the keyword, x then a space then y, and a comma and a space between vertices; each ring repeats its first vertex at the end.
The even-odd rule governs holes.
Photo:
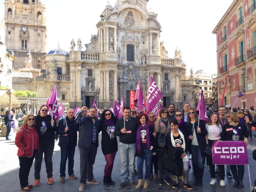
MULTIPOLYGON (((234 131, 237 130, 234 129, 234 131)), ((212 144, 212 162, 217 165, 248 165, 244 141, 214 142, 212 144)))

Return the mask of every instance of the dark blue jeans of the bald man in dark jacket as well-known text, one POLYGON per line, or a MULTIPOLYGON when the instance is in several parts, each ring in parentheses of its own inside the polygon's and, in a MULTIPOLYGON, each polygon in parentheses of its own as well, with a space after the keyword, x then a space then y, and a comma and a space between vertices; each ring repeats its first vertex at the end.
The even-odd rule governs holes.
POLYGON ((68 175, 74 173, 74 155, 76 146, 68 146, 68 148, 60 148, 60 177, 66 176, 66 162, 68 159, 68 175))

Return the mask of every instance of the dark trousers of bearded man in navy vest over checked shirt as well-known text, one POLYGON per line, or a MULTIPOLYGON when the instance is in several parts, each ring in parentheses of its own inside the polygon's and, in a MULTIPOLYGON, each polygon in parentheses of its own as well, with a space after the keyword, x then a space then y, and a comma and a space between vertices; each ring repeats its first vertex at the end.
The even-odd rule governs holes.
POLYGON ((90 149, 79 148, 80 151, 80 183, 86 184, 86 176, 88 181, 94 178, 93 165, 97 154, 97 144, 92 143, 90 149))

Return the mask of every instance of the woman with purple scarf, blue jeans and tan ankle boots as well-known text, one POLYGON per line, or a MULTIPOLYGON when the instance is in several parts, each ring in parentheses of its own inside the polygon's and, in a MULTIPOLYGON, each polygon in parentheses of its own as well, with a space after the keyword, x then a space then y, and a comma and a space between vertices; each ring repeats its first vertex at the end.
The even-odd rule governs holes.
POLYGON ((144 188, 148 188, 152 154, 156 155, 156 139, 152 135, 152 133, 154 133, 154 127, 149 125, 148 116, 144 113, 138 116, 138 120, 139 126, 136 134, 138 185, 136 186, 136 189, 139 189, 143 186, 144 160, 146 164, 144 188))

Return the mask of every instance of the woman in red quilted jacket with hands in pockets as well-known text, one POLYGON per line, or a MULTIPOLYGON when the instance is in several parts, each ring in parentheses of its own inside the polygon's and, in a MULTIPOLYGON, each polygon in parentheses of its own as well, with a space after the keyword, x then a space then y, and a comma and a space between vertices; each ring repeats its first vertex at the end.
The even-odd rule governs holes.
POLYGON ((23 191, 30 191, 33 185, 28 184, 28 175, 32 166, 36 152, 39 149, 38 133, 35 129, 35 117, 28 114, 21 127, 22 132, 17 132, 15 144, 18 147, 18 157, 20 161, 20 187, 23 191))

